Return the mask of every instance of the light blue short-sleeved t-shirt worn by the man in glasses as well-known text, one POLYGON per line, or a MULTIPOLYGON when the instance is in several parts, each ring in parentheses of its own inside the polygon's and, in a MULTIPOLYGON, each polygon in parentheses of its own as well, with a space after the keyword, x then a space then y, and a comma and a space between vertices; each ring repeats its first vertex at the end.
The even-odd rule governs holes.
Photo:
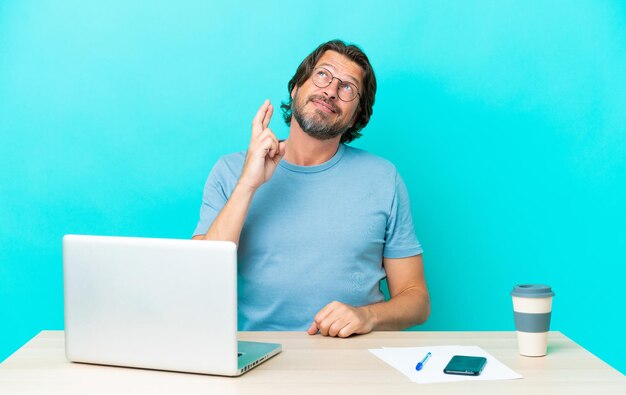
MULTIPOLYGON (((194 235, 226 204, 245 155, 213 167, 194 235)), ((383 257, 421 253, 406 186, 389 161, 344 144, 317 166, 282 160, 256 191, 241 232, 239 330, 306 330, 333 300, 381 302, 383 257)))

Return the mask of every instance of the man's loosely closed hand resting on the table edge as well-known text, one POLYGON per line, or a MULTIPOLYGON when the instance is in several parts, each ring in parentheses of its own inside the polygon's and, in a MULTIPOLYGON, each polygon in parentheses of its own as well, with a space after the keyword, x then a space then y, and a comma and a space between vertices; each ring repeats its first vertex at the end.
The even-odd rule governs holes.
POLYGON ((363 335, 374 328, 372 314, 367 306, 353 307, 341 302, 331 302, 321 309, 307 330, 309 335, 348 337, 363 335))

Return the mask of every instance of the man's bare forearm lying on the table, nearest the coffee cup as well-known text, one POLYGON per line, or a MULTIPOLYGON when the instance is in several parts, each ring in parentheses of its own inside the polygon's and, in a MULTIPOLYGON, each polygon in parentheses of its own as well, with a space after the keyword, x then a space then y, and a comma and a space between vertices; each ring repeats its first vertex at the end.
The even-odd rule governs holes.
POLYGON ((428 292, 406 289, 387 302, 362 306, 372 320, 373 330, 395 331, 422 324, 430 315, 428 292))

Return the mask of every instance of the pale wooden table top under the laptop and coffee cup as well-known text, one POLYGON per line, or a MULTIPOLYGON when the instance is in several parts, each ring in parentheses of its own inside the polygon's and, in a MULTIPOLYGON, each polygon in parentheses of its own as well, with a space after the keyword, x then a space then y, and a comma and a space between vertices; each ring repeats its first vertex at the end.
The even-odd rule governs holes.
POLYGON ((515 332, 374 332, 348 339, 304 332, 241 332, 283 352, 241 377, 70 363, 62 331, 43 331, 0 364, 0 394, 626 394, 626 377, 560 332, 549 354, 517 353, 515 332), (478 345, 520 380, 416 384, 369 351, 380 347, 478 345))

